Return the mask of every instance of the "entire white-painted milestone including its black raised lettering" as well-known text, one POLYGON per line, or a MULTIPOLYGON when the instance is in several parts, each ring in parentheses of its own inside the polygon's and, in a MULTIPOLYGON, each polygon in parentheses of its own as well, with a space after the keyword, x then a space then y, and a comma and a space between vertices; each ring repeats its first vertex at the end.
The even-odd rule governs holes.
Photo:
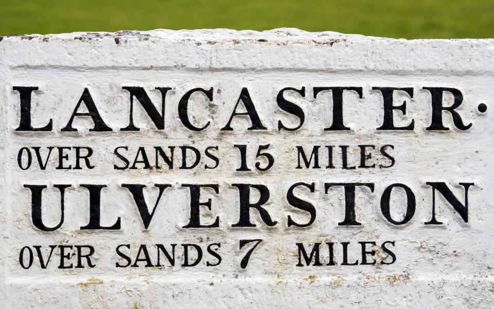
POLYGON ((0 39, 5 308, 494 301, 494 40, 0 39))

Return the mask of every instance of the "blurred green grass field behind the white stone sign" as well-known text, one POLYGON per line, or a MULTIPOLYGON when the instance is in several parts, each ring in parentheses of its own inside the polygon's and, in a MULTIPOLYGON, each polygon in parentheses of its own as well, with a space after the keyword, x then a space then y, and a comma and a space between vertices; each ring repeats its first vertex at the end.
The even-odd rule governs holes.
POLYGON ((494 38, 494 0, 0 0, 0 33, 296 27, 390 38, 494 38))

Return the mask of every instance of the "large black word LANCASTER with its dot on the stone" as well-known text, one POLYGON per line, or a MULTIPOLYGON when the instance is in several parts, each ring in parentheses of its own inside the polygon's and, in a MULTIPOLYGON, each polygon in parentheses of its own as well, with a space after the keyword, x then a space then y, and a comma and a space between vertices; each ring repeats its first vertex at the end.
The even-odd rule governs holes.
MULTIPOLYGON (((54 121, 52 119, 46 119, 46 125, 43 126, 33 126, 31 123, 31 117, 36 117, 38 121, 42 121, 39 119, 39 115, 32 115, 31 111, 31 97, 34 93, 39 89, 38 86, 14 86, 12 89, 15 92, 19 93, 20 96, 20 121, 19 126, 15 129, 15 131, 54 131, 54 121)), ((77 104, 75 104, 75 108, 67 117, 67 122, 60 125, 61 132, 73 132, 78 131, 77 128, 73 127, 73 122, 75 119, 79 119, 80 117, 90 117, 93 126, 92 128, 88 128, 89 131, 92 132, 107 132, 107 131, 139 131, 139 128, 134 124, 133 120, 133 111, 136 104, 134 104, 135 100, 137 100, 140 105, 142 105, 144 112, 149 116, 149 119, 153 122, 155 128, 157 130, 165 130, 165 102, 167 101, 167 94, 170 93, 171 87, 155 87, 154 90, 161 93, 162 102, 161 108, 157 108, 155 102, 152 102, 147 94, 147 90, 144 87, 139 86, 123 86, 123 90, 126 90, 130 93, 129 102, 125 103, 129 106, 129 114, 126 117, 129 119, 128 125, 124 128, 111 128, 108 125, 107 121, 103 119, 101 116, 98 105, 102 104, 102 102, 95 102, 93 99, 89 88, 84 88, 82 90, 82 95, 78 100, 77 104), (85 106, 82 106, 84 104, 85 106), (84 112, 81 112, 84 110, 84 112), (85 111, 87 110, 87 112, 85 111)), ((219 90, 219 89, 218 89, 219 90)), ((393 94, 395 92, 399 92, 408 96, 409 98, 413 98, 414 96, 414 88, 413 87, 372 87, 377 94, 380 94, 383 101, 382 108, 382 124, 376 128, 376 130, 414 130, 415 123, 414 119, 411 118, 407 124, 396 124, 394 121, 394 117, 396 117, 399 113, 401 115, 407 114, 407 101, 394 102, 393 94)), ((471 127, 471 123, 466 123, 462 116, 456 108, 460 107, 463 102, 463 94, 461 90, 456 88, 448 88, 448 87, 422 87, 419 88, 420 91, 425 91, 430 94, 430 99, 427 102, 427 105, 430 106, 430 124, 427 126, 427 131, 446 131, 451 128, 443 122, 443 118, 445 115, 449 114, 452 117, 452 124, 458 130, 468 130, 471 127), (452 102, 446 100, 444 97, 446 95, 448 97, 453 97, 452 102), (446 113, 445 113, 446 112, 446 113)), ((344 98, 348 98, 348 96, 356 96, 356 98, 363 99, 363 88, 358 86, 349 86, 349 87, 313 87, 312 89, 306 92, 305 87, 295 88, 295 87, 286 87, 279 90, 276 96, 276 103, 280 110, 296 117, 298 119, 298 123, 288 125, 284 123, 282 120, 278 120, 277 122, 277 130, 285 130, 285 131, 297 131, 302 128, 304 125, 306 115, 304 109, 289 101, 285 94, 290 93, 291 95, 298 96, 303 99, 306 96, 312 95, 315 100, 318 99, 318 96, 321 93, 330 92, 332 96, 332 112, 331 115, 327 115, 324 117, 331 119, 331 125, 327 128, 324 128, 324 131, 347 131, 351 130, 347 124, 345 124, 345 119, 343 117, 344 113, 344 98), (311 94, 309 94, 311 92, 311 94)), ((193 88, 188 90, 185 94, 182 95, 181 99, 178 102, 178 116, 182 125, 190 131, 203 131, 211 124, 211 121, 197 121, 192 115, 192 112, 189 111, 189 99, 191 96, 197 97, 202 96, 201 100, 213 102, 215 100, 214 89, 213 87, 209 88, 193 88), (202 123, 197 123, 202 122, 202 123)), ((42 95, 39 98, 40 102, 42 102, 42 95)), ((238 99, 233 98, 232 103, 235 102, 235 106, 232 108, 228 108, 228 118, 225 123, 221 123, 221 131, 234 131, 232 128, 232 123, 238 117, 248 117, 251 124, 247 128, 248 130, 268 130, 268 127, 264 124, 262 117, 259 116, 258 111, 256 110, 255 103, 251 98, 249 93, 249 89, 243 87, 238 95, 238 99)), ((327 100, 327 99, 326 99, 327 100)), ((329 104, 329 100, 328 103, 329 104)), ((266 102, 260 102, 263 105, 266 102)), ((47 104, 47 102, 42 102, 42 104, 47 104)), ((123 104, 123 102, 122 102, 123 104)), ((257 103, 259 104, 259 103, 257 103)), ((232 104, 233 105, 233 104, 232 104)), ((361 109, 366 110, 369 108, 368 105, 362 104, 361 109)), ((484 106, 479 105, 479 111, 484 110, 484 106)), ((197 113, 197 112, 196 112, 197 113)))

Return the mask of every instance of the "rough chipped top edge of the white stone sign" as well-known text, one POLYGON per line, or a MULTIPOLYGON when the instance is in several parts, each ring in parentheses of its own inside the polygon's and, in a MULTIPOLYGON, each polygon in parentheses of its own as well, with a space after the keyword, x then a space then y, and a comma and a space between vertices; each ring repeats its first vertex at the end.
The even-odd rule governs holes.
POLYGON ((198 40, 198 41, 225 41, 225 40, 256 40, 258 42, 296 41, 296 40, 384 40, 384 41, 492 41, 494 39, 392 39, 372 37, 362 34, 345 34, 334 31, 309 32, 297 28, 277 28, 272 30, 232 30, 232 29, 196 29, 196 30, 168 30, 155 29, 148 31, 121 30, 116 32, 72 32, 60 34, 11 34, 0 35, 3 40, 69 40, 90 41, 93 39, 126 39, 126 40, 198 40))

